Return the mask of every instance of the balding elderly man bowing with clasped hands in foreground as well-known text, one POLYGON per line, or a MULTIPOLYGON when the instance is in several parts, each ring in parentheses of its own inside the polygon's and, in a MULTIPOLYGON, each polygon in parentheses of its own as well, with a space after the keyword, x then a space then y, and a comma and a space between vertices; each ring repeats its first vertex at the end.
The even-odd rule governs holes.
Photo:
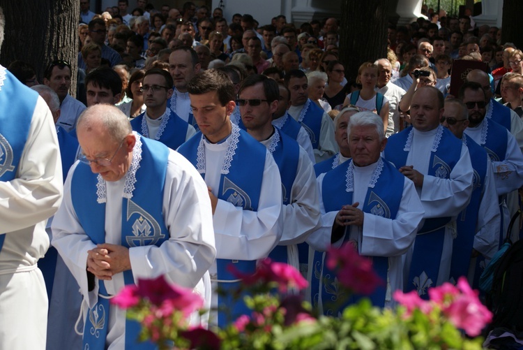
POLYGON ((210 293, 211 201, 183 156, 133 133, 114 106, 88 108, 77 136, 83 154, 66 180, 53 245, 84 297, 83 348, 136 349, 139 324, 126 321, 125 310, 109 307, 108 299, 126 284, 160 275, 210 293))

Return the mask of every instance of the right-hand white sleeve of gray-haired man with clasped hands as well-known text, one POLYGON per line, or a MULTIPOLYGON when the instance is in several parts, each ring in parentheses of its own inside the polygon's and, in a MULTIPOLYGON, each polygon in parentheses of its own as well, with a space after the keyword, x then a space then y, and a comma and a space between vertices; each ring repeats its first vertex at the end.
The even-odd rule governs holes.
POLYGON ((360 253, 368 256, 400 256, 411 247, 425 210, 414 182, 405 177, 402 200, 395 219, 365 212, 360 253))

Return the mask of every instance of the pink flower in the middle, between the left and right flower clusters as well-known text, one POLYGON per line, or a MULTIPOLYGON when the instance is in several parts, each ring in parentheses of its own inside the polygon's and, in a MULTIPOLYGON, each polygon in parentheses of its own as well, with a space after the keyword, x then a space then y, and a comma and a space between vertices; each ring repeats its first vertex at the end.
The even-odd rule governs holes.
POLYGON ((287 291, 289 286, 294 286, 298 290, 308 286, 307 280, 303 278, 298 270, 286 263, 275 263, 270 258, 264 258, 264 260, 259 262, 254 275, 243 274, 236 270, 234 265, 229 265, 227 269, 236 277, 243 279, 242 282, 246 286, 256 283, 276 282, 278 283, 278 289, 282 292, 287 291))

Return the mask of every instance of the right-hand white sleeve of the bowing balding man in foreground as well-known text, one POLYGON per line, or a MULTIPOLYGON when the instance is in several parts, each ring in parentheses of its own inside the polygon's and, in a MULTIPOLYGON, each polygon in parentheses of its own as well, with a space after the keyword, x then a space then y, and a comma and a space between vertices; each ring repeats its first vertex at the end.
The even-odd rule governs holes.
POLYGON ((129 249, 132 276, 155 278, 194 288, 216 255, 211 200, 197 170, 171 151, 163 193, 163 212, 170 238, 157 247, 129 249))

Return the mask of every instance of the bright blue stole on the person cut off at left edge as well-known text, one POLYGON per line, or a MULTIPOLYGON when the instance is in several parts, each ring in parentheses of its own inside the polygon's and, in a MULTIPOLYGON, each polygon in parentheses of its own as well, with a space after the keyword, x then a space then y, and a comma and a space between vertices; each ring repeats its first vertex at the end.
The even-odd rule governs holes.
MULTIPOLYGON (((1 73, 5 73, 5 80, 0 80, 0 181, 8 182, 16 177, 38 92, 23 85, 3 66, 0 66, 1 73), (23 102, 20 96, 24 96, 23 102)), ((6 235, 5 232, 0 233, 1 252, 6 235)))

